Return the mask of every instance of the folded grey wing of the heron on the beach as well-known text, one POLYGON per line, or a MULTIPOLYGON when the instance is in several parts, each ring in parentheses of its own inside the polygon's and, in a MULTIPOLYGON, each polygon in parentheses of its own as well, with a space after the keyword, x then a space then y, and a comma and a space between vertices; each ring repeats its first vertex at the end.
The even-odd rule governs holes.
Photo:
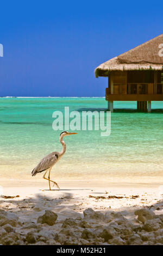
POLYGON ((41 161, 37 164, 37 166, 32 171, 32 176, 35 176, 37 173, 43 172, 43 170, 47 170, 54 166, 54 164, 58 160, 58 153, 52 152, 51 154, 43 157, 41 161))

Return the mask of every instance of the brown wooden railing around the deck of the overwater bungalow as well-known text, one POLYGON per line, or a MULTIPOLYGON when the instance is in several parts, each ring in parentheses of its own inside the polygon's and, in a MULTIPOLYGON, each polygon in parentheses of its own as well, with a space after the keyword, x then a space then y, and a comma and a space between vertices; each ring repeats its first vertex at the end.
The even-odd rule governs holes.
POLYGON ((106 95, 163 94, 163 84, 157 83, 114 83, 113 92, 106 88, 106 95))

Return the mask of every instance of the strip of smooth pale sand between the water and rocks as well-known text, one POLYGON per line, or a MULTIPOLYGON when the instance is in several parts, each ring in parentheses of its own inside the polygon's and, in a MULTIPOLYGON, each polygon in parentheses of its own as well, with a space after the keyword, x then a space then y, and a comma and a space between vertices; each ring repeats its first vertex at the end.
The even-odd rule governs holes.
MULTIPOLYGON (((49 191, 48 182, 41 180, 3 180, 0 186, 5 196, 19 195, 20 197, 16 200, 39 196, 52 199, 69 197, 74 205, 83 203, 83 206, 80 207, 81 210, 85 210, 85 207, 95 208, 96 210, 104 210, 109 207, 110 209, 119 210, 131 206, 149 206, 161 200, 161 194, 163 195, 161 184, 115 184, 104 181, 100 183, 97 181, 60 181, 58 184, 60 190, 51 185, 52 191, 49 191), (119 198, 107 199, 109 196, 119 198), (136 197, 133 198, 132 196, 136 197)), ((68 204, 67 207, 69 207, 68 204)))

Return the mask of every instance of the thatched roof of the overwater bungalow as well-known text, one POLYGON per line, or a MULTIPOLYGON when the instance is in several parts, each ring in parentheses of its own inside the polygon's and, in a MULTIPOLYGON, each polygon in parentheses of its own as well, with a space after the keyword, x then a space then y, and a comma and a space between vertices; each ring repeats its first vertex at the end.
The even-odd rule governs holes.
POLYGON ((95 75, 108 76, 108 72, 114 70, 162 70, 161 48, 163 48, 163 34, 99 65, 95 69, 95 75))

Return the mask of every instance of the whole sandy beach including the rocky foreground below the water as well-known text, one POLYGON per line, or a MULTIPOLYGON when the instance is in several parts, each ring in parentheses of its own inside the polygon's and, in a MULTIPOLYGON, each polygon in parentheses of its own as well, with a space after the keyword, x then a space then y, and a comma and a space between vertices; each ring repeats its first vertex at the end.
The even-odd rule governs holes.
POLYGON ((2 245, 163 244, 161 184, 58 183, 1 181, 2 245))

